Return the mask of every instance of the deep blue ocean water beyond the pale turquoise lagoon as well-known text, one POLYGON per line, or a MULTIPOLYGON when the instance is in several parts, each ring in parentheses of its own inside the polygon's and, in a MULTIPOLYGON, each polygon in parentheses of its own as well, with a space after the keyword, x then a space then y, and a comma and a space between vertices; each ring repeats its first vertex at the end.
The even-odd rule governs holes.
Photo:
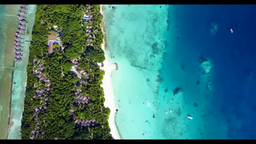
POLYGON ((174 36, 172 30, 168 31, 167 39, 175 46, 167 46, 162 76, 165 82, 175 81, 184 89, 185 108, 191 108, 194 101, 198 108, 206 105, 207 119, 200 123, 205 124, 201 134, 205 135, 199 138, 255 139, 256 6, 175 5, 170 11, 174 16, 169 16, 169 27, 178 32, 174 36), (214 21, 219 27, 215 34, 209 29, 214 21), (212 91, 200 95, 197 92, 206 86, 196 85, 192 77, 202 79, 197 71, 202 57, 213 65, 212 91), (181 66, 171 67, 172 63, 181 66), (181 67, 182 72, 174 70, 181 67))

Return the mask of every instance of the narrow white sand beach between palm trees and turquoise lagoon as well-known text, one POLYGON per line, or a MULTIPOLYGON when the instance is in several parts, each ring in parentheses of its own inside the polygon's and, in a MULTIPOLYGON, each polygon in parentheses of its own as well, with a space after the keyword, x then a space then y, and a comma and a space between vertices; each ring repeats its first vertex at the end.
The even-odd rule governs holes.
MULTIPOLYGON (((103 5, 100 5, 100 7, 101 7, 101 13, 103 15, 102 33, 104 35, 102 49, 105 52, 105 50, 107 49, 107 42, 106 42, 106 31, 105 31, 105 23, 104 23, 104 8, 103 8, 103 5)), ((103 63, 104 63, 105 75, 103 76, 101 86, 104 89, 104 98, 105 98, 104 105, 105 105, 105 107, 108 107, 110 109, 110 115, 108 118, 108 125, 111 130, 110 134, 112 134, 112 137, 114 139, 121 139, 119 132, 117 130, 117 127, 115 125, 115 110, 116 110, 115 95, 114 95, 113 88, 111 85, 111 72, 112 72, 112 70, 114 70, 113 69, 114 64, 112 64, 108 61, 106 52, 105 52, 105 61, 103 63)))

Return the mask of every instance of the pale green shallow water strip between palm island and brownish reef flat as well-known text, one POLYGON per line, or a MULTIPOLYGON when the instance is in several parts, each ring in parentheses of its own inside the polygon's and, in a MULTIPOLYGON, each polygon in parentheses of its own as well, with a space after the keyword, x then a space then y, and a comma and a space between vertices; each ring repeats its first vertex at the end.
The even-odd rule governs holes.
MULTIPOLYGON (((24 109, 24 96, 26 91, 27 65, 30 53, 30 41, 35 20, 36 5, 30 5, 27 22, 26 44, 22 62, 15 62, 13 74, 12 100, 10 113, 10 131, 7 139, 21 139, 20 126, 24 109)), ((16 24, 17 26, 17 24, 16 24)), ((13 34, 13 38, 15 33, 13 34)), ((13 51, 13 49, 12 49, 13 51)))

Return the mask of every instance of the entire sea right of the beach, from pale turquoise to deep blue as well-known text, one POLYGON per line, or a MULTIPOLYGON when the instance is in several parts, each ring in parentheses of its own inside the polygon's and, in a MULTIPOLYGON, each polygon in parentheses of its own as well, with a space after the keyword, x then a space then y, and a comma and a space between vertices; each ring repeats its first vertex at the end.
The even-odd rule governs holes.
POLYGON ((122 139, 255 139, 254 6, 104 8, 122 139), (203 58, 209 74, 200 70, 203 58))

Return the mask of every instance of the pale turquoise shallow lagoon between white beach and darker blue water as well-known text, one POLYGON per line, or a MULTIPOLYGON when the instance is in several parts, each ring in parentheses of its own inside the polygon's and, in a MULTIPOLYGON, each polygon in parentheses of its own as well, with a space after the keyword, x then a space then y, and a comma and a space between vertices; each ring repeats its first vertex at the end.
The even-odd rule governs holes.
MULTIPOLYGON (((116 124, 124 139, 150 139, 158 134, 160 119, 148 108, 146 99, 158 110, 156 81, 165 49, 168 6, 105 5, 112 85, 118 112, 116 124), (116 7, 112 10, 112 6, 116 7)), ((160 135, 161 136, 161 135, 160 135)))

